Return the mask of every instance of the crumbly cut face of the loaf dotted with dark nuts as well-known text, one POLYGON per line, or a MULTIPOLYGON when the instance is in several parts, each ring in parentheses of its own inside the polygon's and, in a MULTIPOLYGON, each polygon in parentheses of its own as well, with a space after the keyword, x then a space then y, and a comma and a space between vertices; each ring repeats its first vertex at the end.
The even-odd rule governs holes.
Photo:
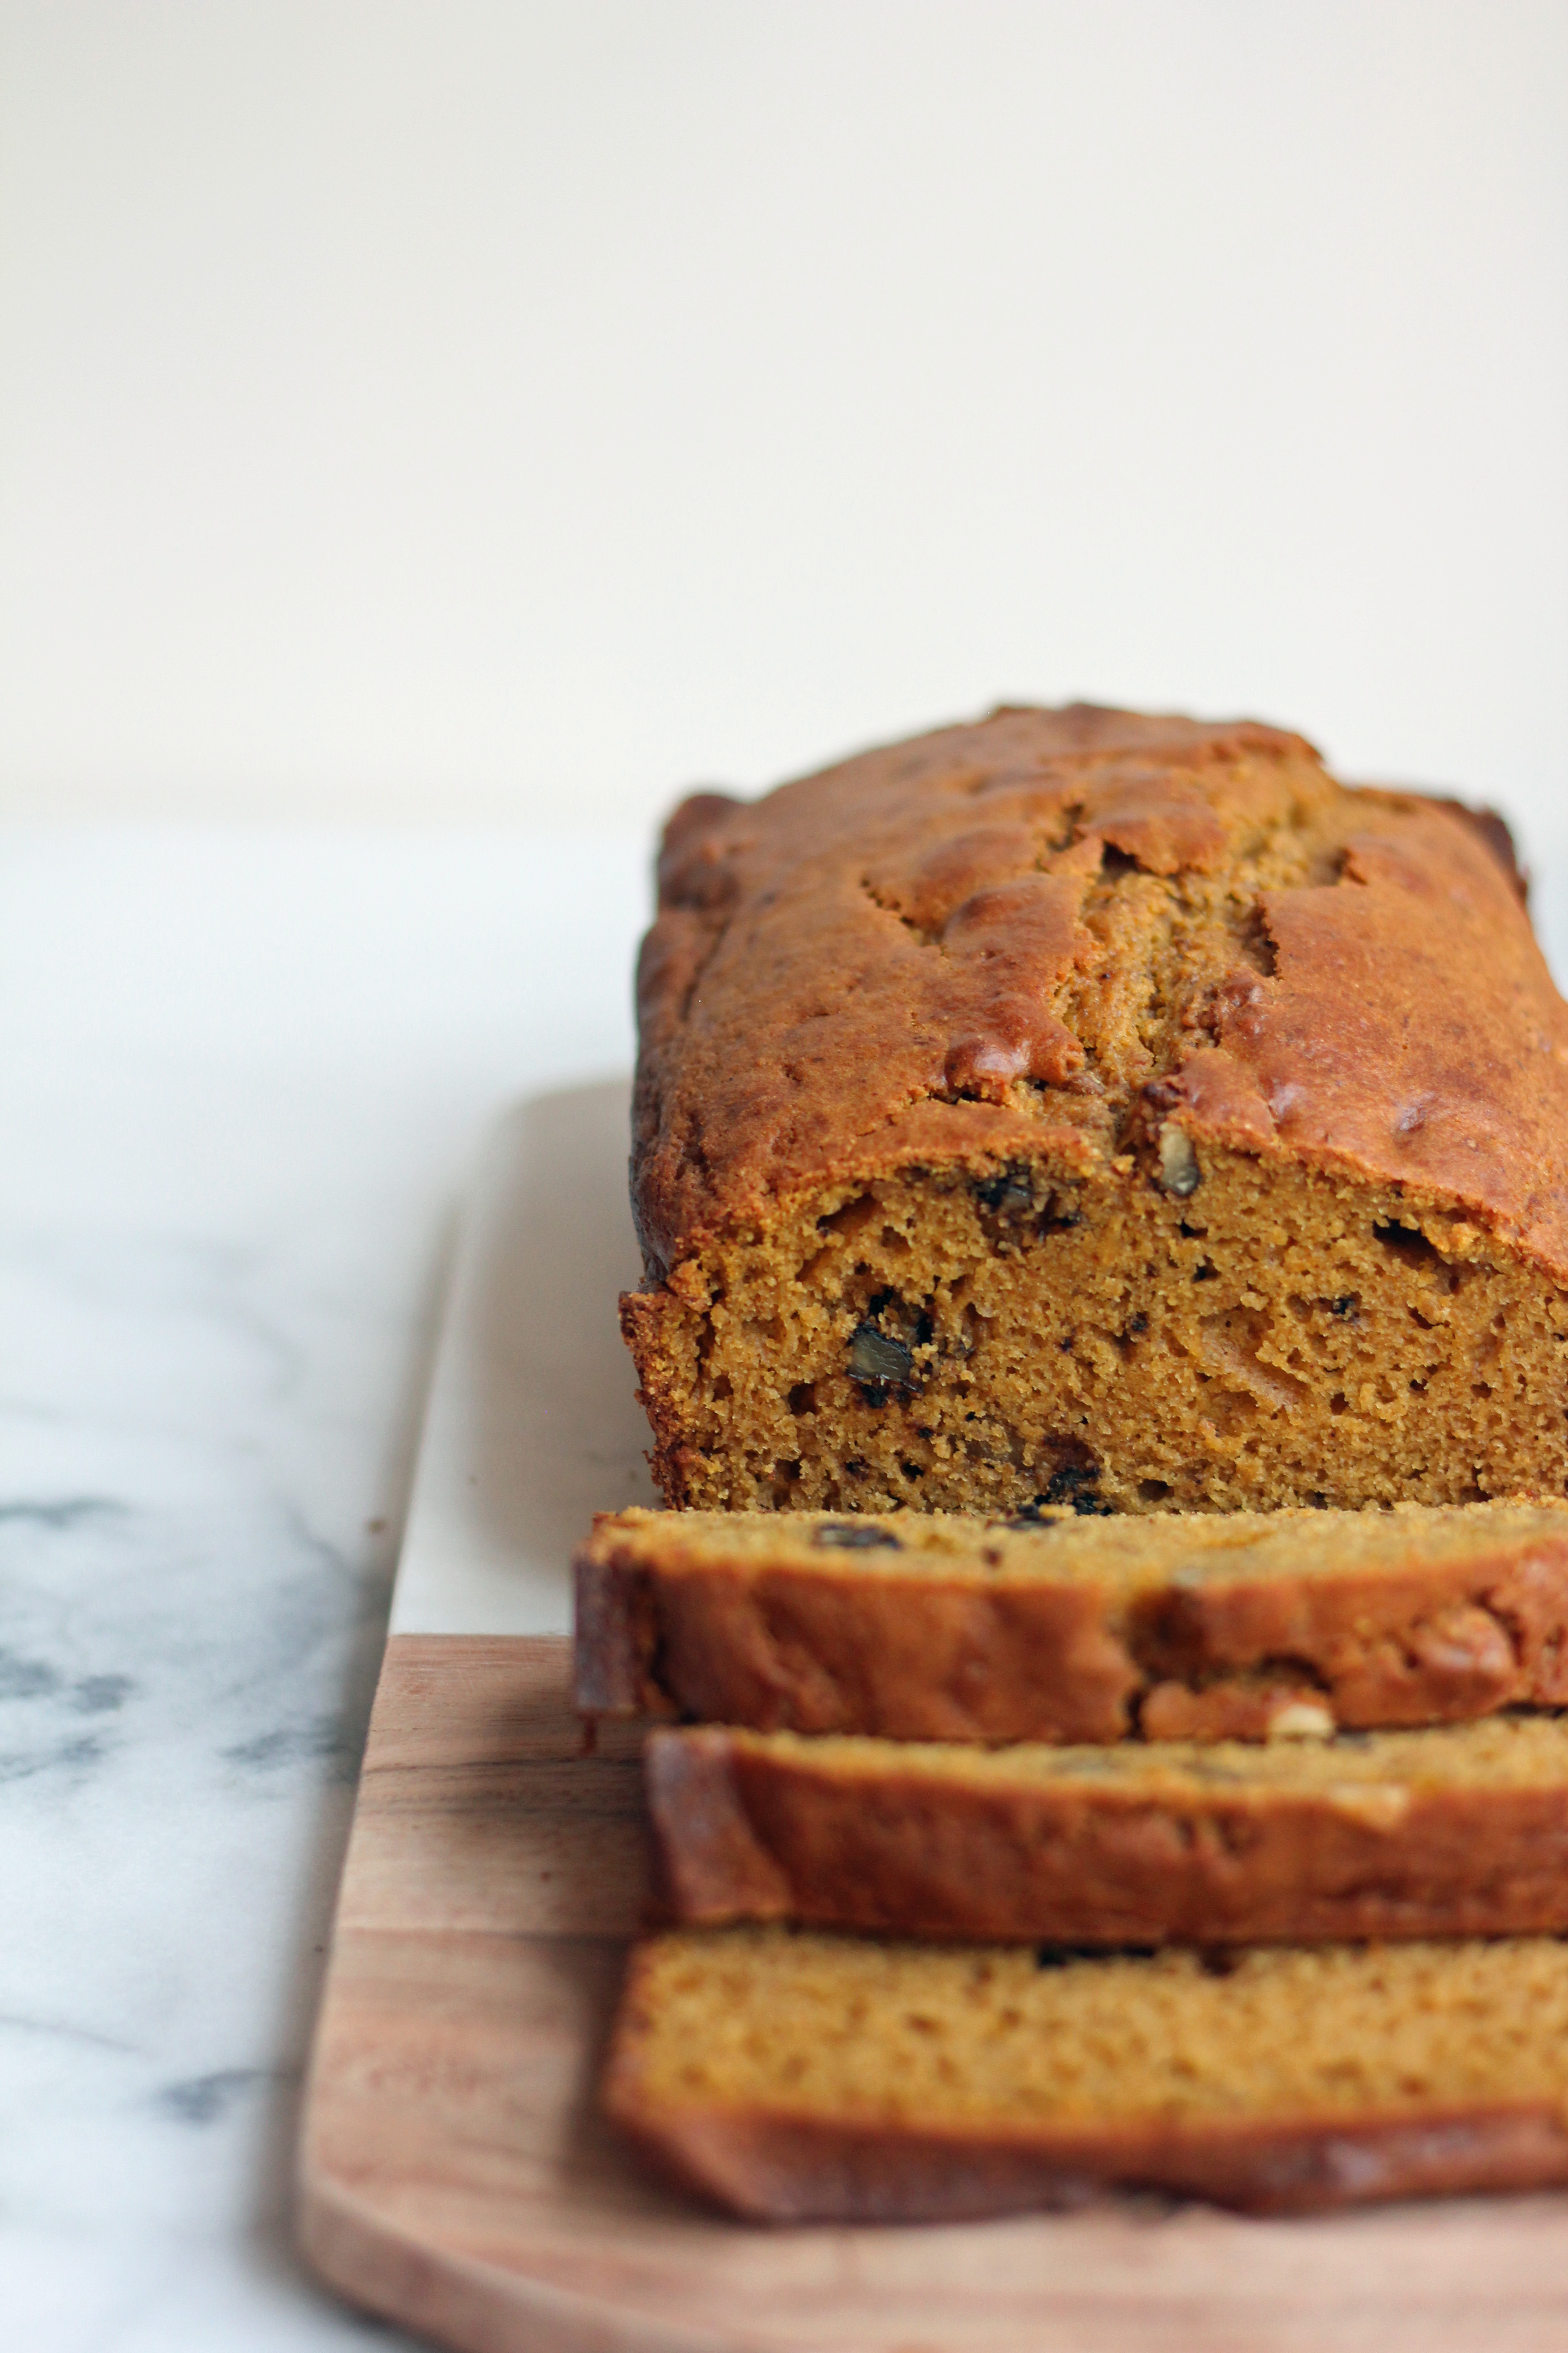
POLYGON ((628 1297, 625 1332, 682 1508, 1568 1487, 1568 1299, 1537 1266, 1408 1188, 1175 1122, 1119 1165, 837 1184, 628 1297))

